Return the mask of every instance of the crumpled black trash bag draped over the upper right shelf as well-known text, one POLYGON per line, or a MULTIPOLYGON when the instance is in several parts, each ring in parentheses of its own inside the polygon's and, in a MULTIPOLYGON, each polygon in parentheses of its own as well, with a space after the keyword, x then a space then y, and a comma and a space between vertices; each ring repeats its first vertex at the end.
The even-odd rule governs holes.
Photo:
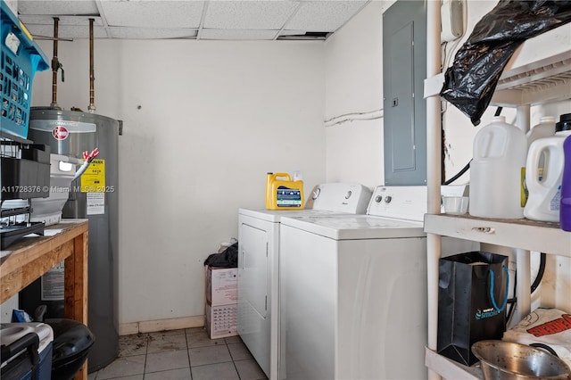
POLYGON ((569 21, 571 1, 500 1, 456 53, 440 95, 477 126, 517 47, 569 21))

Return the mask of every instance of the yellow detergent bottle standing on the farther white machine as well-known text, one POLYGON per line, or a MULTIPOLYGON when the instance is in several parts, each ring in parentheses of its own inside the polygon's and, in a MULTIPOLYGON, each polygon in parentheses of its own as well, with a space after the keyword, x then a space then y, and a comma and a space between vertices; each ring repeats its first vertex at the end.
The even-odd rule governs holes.
POLYGON ((303 181, 294 180, 287 173, 268 173, 266 179, 266 209, 268 210, 302 210, 303 181))

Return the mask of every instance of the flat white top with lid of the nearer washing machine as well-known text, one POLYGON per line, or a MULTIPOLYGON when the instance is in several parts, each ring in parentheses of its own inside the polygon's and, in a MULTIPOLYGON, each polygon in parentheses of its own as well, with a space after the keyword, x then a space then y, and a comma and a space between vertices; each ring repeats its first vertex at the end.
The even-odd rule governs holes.
POLYGON ((368 215, 302 216, 282 218, 282 226, 294 227, 335 240, 424 237, 422 222, 368 215))

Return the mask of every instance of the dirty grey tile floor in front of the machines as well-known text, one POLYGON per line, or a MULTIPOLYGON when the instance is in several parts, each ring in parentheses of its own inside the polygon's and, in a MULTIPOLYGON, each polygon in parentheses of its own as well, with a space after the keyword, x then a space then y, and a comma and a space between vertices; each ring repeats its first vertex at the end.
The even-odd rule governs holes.
POLYGON ((211 340, 202 327, 120 336, 119 357, 88 380, 267 379, 239 336, 211 340))

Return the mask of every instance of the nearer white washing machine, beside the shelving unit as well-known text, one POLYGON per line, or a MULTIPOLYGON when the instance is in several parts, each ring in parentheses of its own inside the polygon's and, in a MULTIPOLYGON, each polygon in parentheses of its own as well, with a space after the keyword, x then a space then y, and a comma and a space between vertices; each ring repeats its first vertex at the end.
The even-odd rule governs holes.
POLYGON ((426 378, 426 203, 379 186, 368 215, 281 219, 280 379, 426 378))

